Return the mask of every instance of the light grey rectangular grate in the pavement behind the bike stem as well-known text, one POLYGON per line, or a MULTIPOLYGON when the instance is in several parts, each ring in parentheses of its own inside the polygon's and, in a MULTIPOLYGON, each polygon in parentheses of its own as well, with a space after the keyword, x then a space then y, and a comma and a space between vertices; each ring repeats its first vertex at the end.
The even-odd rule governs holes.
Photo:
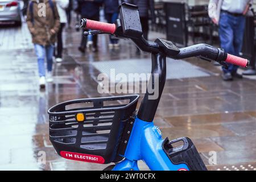
MULTIPOLYGON (((97 62, 92 64, 101 73, 106 73, 109 76, 111 82, 114 82, 114 78, 110 77, 110 69, 114 69, 115 75, 117 75, 118 73, 123 73, 126 76, 128 76, 129 73, 141 74, 151 72, 151 60, 149 59, 115 60, 97 62)), ((204 69, 183 60, 167 59, 166 64, 167 79, 207 77, 213 75, 213 73, 205 71, 204 69)))

